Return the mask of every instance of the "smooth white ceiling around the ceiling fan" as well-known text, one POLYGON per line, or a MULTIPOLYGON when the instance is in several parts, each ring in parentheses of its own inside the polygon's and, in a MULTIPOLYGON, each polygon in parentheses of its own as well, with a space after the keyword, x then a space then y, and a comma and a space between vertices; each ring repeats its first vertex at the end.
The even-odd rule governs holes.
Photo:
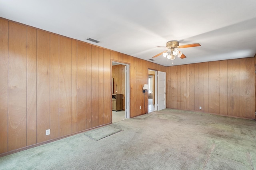
POLYGON ((256 0, 0 0, 0 17, 147 61, 169 40, 201 44, 164 66, 256 53, 256 0))

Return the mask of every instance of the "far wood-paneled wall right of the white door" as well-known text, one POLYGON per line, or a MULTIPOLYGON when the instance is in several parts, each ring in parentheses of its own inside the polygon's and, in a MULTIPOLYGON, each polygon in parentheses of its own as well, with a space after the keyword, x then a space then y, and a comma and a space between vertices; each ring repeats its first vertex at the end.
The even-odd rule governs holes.
POLYGON ((254 119, 254 74, 254 57, 166 67, 166 107, 254 119))

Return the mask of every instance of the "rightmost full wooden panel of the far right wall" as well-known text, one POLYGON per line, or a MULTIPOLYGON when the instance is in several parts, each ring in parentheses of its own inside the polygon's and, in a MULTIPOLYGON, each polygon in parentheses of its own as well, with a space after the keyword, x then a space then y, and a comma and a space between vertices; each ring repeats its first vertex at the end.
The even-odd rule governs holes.
POLYGON ((254 58, 246 58, 246 117, 254 119, 255 115, 255 76, 254 58))

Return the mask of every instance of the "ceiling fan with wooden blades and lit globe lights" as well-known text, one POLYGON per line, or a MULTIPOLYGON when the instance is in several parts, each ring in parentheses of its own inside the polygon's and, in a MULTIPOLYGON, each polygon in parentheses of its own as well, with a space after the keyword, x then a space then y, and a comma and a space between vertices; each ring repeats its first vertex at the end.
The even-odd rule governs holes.
POLYGON ((179 57, 181 59, 186 58, 186 56, 180 52, 177 48, 187 48, 187 47, 198 47, 201 46, 200 43, 192 43, 187 45, 179 45, 179 42, 176 40, 168 41, 166 43, 166 47, 164 46, 157 46, 157 47, 164 47, 168 48, 167 50, 155 55, 152 58, 158 57, 159 55, 163 54, 164 57, 167 57, 168 59, 174 60, 176 57, 179 57))

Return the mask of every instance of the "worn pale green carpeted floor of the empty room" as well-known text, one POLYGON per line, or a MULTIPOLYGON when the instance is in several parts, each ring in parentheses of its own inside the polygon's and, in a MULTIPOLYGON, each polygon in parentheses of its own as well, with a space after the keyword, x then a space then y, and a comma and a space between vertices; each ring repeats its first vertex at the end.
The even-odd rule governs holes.
POLYGON ((164 109, 0 158, 0 169, 256 170, 252 120, 164 109))

